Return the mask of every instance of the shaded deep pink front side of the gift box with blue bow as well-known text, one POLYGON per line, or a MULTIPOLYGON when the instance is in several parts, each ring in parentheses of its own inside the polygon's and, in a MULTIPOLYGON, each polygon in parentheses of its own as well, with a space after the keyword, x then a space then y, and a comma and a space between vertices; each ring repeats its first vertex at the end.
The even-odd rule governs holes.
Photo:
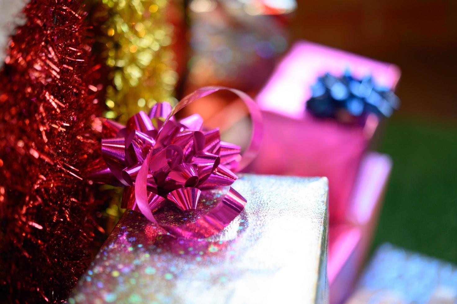
POLYGON ((326 176, 330 222, 345 218, 357 168, 367 146, 361 128, 314 117, 292 119, 263 112, 264 138, 255 173, 326 176))

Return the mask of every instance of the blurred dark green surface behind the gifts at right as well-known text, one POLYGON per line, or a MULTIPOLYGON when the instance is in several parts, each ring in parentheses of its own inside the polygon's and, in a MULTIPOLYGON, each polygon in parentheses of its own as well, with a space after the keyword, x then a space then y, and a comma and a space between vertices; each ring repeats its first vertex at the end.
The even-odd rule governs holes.
POLYGON ((393 170, 372 251, 390 242, 457 264, 457 126, 393 119, 378 150, 393 170))

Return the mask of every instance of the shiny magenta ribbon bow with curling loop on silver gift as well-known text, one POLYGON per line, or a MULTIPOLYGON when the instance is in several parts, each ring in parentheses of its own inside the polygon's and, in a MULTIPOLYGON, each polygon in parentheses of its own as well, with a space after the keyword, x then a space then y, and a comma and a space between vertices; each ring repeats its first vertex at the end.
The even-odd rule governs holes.
POLYGON ((192 223, 159 224, 153 213, 167 202, 182 211, 196 209, 203 189, 230 186, 238 178, 233 171, 241 170, 255 158, 260 126, 260 110, 244 92, 203 87, 184 97, 173 109, 164 102, 154 105, 149 115, 135 114, 126 126, 106 120, 103 135, 108 138, 101 141, 105 162, 99 161, 90 179, 128 187, 123 197, 123 203, 128 200, 126 207, 139 210, 171 235, 202 239, 220 232, 244 209, 246 200, 232 187, 220 203, 192 223), (250 112, 251 142, 243 157, 239 146, 220 140, 219 129, 206 131, 200 115, 175 120, 174 115, 183 107, 219 90, 234 92, 250 112))

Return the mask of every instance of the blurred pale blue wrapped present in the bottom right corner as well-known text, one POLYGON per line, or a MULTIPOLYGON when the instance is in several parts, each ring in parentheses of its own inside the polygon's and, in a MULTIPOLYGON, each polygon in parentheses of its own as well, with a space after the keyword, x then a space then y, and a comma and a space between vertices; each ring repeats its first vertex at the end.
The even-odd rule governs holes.
POLYGON ((454 304, 456 286, 455 265, 384 244, 346 303, 454 304))

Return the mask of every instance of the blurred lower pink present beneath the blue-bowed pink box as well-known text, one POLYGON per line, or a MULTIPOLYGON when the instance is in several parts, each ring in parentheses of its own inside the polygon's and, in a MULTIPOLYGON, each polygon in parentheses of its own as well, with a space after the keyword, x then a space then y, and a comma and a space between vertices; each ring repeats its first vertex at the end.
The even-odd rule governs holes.
POLYGON ((329 225, 330 303, 351 292, 370 248, 392 168, 387 155, 368 153, 361 162, 344 222, 329 225))

